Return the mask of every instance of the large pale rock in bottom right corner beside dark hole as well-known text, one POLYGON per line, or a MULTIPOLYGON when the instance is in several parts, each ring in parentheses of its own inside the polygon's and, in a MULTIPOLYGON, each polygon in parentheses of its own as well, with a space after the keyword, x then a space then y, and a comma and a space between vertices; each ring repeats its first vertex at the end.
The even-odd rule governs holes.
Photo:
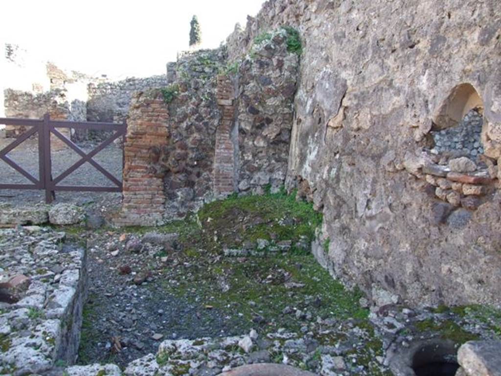
POLYGON ((501 341, 469 341, 457 352, 468 376, 501 376, 501 341))

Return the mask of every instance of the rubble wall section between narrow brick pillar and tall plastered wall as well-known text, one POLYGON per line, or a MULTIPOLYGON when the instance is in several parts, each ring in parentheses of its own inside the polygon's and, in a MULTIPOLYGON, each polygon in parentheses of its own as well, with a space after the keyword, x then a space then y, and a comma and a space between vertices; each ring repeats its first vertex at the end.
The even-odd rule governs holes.
POLYGON ((238 70, 238 190, 262 193, 284 185, 299 57, 287 33, 272 31, 253 45, 238 70))

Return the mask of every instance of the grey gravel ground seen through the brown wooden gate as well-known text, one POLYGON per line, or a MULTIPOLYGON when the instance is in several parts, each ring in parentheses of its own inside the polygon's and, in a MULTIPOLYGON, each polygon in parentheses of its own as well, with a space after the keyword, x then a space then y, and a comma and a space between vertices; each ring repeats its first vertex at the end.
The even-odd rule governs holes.
MULTIPOLYGON (((12 138, 0 139, 0 150, 13 141, 12 138)), ((96 145, 80 145, 89 152, 96 145)), ((38 178, 38 138, 31 137, 8 154, 11 159, 21 167, 29 171, 38 178)), ((68 147, 61 150, 52 150, 53 176, 58 176, 65 169, 80 159, 79 155, 68 147)), ((110 171, 115 177, 121 180, 122 175, 122 149, 114 144, 99 152, 94 160, 110 171)), ((29 180, 19 172, 0 160, 0 181, 3 183, 29 183, 29 180)), ((104 175, 96 170, 89 163, 85 163, 72 174, 67 176, 61 184, 69 185, 105 185, 113 186, 104 175)), ((96 193, 96 192, 56 192, 56 202, 75 203, 79 205, 91 205, 99 208, 101 212, 107 212, 115 208, 121 201, 120 193, 96 193)), ((45 192, 36 190, 0 190, 0 201, 9 204, 35 204, 44 202, 45 192)))

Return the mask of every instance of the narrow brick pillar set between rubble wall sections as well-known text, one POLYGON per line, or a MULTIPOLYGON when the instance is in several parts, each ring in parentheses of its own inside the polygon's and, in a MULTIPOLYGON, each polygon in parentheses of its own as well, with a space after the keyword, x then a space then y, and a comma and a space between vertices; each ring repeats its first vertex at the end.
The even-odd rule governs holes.
POLYGON ((228 76, 217 76, 217 104, 221 120, 216 130, 214 156, 214 195, 226 196, 235 192, 235 147, 231 139, 234 124, 234 86, 228 76))

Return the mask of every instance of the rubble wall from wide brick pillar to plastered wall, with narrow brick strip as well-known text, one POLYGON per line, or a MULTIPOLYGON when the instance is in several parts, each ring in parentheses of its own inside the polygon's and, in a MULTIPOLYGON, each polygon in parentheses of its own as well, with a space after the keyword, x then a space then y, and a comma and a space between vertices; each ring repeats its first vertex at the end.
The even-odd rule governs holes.
MULTIPOLYGON (((263 193, 284 184, 298 66, 297 53, 288 51, 287 32, 278 30, 231 64, 225 49, 183 54, 169 65, 170 85, 141 94, 158 100, 163 93, 169 114, 163 122, 168 139, 152 140, 149 150, 155 157, 141 162, 164 179, 166 220, 194 212, 215 197, 263 193)), ((129 127, 146 122, 140 128, 147 134, 140 114, 149 104, 138 98, 129 127)), ((127 138, 126 165, 130 147, 136 146, 127 138)), ((125 176, 127 185, 127 168, 125 176)), ((128 201, 124 217, 129 209, 138 210, 132 215, 136 223, 148 221, 139 205, 128 201)))

